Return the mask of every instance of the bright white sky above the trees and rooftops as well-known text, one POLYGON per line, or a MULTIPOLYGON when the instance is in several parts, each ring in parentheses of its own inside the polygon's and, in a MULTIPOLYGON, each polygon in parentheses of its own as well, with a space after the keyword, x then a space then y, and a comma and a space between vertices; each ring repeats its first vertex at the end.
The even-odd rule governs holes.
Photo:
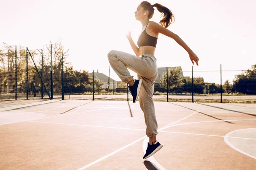
MULTIPOLYGON (((175 15, 168 29, 195 52, 199 66, 194 77, 222 84, 256 64, 255 0, 151 0, 175 15), (212 71, 212 72, 207 72, 212 71)), ((141 0, 0 0, 0 46, 22 45, 41 49, 49 41, 62 40, 69 50, 67 60, 75 70, 108 75, 107 54, 111 50, 134 54, 125 34, 137 44, 142 24, 134 11, 141 0)), ((151 21, 159 22, 154 10, 151 21)), ((192 76, 187 52, 172 38, 160 34, 155 50, 158 67, 181 66, 184 76, 192 76)), ((137 74, 130 71, 134 78, 137 74)), ((110 77, 120 81, 111 68, 110 77)))

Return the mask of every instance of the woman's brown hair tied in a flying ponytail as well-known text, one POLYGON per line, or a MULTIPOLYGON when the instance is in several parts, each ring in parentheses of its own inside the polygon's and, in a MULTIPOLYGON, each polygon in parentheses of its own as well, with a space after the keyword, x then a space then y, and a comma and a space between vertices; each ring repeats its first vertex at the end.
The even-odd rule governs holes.
POLYGON ((172 14, 172 11, 166 8, 165 6, 160 5, 159 3, 155 3, 154 5, 151 5, 148 1, 143 1, 140 3, 140 6, 144 8, 145 11, 148 11, 148 18, 151 19, 154 14, 154 7, 157 8, 159 12, 161 12, 162 20, 160 20, 159 24, 165 28, 167 28, 172 22, 175 21, 175 17, 172 14))

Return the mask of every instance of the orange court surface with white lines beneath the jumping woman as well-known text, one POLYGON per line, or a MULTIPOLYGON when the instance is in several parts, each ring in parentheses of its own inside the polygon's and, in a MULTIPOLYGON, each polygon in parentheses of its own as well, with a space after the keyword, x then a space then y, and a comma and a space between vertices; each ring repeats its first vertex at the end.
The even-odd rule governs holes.
POLYGON ((0 102, 0 170, 255 170, 256 104, 154 102, 163 144, 139 102, 0 102))

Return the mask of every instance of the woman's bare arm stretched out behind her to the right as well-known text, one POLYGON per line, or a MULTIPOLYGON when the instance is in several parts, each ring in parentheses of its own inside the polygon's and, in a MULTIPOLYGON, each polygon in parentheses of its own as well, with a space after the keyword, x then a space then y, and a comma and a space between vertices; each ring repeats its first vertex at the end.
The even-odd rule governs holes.
POLYGON ((163 26, 161 26, 161 25, 159 25, 158 23, 155 23, 155 22, 151 22, 151 29, 154 32, 164 34, 167 37, 171 37, 172 39, 174 39, 180 46, 182 46, 188 52, 191 62, 194 64, 193 61, 195 61, 196 64, 198 65, 198 61, 199 61, 198 57, 195 55, 195 53, 189 48, 188 45, 186 45, 186 43, 177 34, 174 34, 169 29, 166 29, 163 26))

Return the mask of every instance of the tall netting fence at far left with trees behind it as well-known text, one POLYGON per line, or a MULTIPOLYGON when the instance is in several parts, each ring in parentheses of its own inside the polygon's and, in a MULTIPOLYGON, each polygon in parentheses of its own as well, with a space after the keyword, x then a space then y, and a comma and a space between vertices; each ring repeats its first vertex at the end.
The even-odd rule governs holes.
MULTIPOLYGON (((61 97, 61 65, 53 64, 53 98, 61 97)), ((0 100, 50 99, 51 67, 49 50, 0 47, 0 100)))

